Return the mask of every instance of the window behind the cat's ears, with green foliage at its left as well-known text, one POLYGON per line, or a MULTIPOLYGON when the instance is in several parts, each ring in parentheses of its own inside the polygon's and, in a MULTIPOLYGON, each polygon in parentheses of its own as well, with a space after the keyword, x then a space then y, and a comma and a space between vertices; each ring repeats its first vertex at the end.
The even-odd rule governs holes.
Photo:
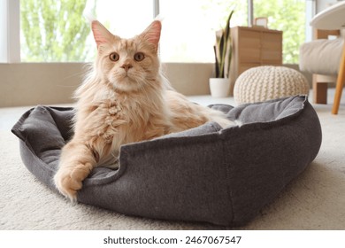
POLYGON ((84 62, 96 54, 85 14, 96 16, 116 35, 128 36, 142 31, 152 20, 153 2, 22 0, 20 13, 23 62, 84 62))

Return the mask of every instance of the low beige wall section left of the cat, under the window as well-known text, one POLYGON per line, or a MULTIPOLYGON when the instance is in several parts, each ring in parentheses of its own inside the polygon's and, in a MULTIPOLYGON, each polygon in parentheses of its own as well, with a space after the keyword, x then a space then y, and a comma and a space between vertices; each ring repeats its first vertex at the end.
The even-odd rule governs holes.
POLYGON ((0 64, 0 107, 71 102, 82 64, 0 64))

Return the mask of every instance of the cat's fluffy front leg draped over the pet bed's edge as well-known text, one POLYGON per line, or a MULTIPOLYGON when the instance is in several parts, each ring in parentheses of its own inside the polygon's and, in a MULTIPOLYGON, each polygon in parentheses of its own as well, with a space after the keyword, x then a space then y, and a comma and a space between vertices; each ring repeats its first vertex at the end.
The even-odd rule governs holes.
POLYGON ((94 167, 96 167, 94 152, 86 144, 73 140, 67 143, 61 151, 58 172, 54 176, 58 191, 71 201, 76 201, 82 181, 88 177, 94 167))

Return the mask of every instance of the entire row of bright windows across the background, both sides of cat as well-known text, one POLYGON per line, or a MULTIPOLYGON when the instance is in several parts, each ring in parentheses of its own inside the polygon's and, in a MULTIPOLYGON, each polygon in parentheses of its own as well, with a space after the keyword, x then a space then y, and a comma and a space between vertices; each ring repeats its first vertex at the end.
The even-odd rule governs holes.
MULTIPOLYGON (((7 4, 19 0, 0 0, 7 4)), ((308 0, 307 2, 311 2, 308 0)), ((215 31, 224 26, 234 9, 231 26, 247 26, 245 0, 21 0, 21 61, 91 61, 96 47, 83 12, 94 12, 113 33, 132 36, 142 31, 154 16, 155 3, 164 18, 161 58, 164 62, 213 62, 215 31)), ((268 17, 270 28, 284 31, 284 63, 297 63, 304 42, 303 0, 254 0, 254 17, 268 17), (294 4, 291 4, 294 1, 294 4)), ((309 7, 311 8, 311 7, 309 7)), ((12 12, 10 12, 12 15, 12 12)), ((15 17, 19 19, 19 17, 15 17)), ((310 17, 309 17, 310 18, 310 17)), ((2 22, 4 26, 4 22, 2 22)), ((9 30, 15 30, 5 27, 9 30)), ((5 36, 0 34, 0 49, 5 36)), ((11 40, 18 39, 13 35, 11 40)), ((18 39, 19 40, 19 39, 18 39)), ((13 43, 9 43, 12 45, 13 43)), ((7 46, 9 46, 7 44, 7 46)), ((19 47, 19 45, 18 45, 19 47)), ((4 48, 0 50, 3 54, 4 48)))

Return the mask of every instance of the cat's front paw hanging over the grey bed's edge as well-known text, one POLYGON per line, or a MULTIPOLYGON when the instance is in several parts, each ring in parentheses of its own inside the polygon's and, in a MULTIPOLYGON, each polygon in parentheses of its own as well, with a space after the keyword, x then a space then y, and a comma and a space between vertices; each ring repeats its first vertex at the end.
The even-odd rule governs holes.
POLYGON ((82 188, 82 181, 90 173, 90 166, 78 164, 73 167, 60 167, 54 176, 58 191, 72 202, 77 201, 77 191, 82 188))

